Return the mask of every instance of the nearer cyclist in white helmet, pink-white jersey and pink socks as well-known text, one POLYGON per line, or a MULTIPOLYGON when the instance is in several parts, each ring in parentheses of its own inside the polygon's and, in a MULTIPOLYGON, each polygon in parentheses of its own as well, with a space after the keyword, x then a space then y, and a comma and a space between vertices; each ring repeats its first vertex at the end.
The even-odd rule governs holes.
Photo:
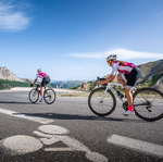
POLYGON ((124 112, 124 115, 135 114, 134 112, 134 102, 131 89, 136 86, 138 79, 142 76, 141 70, 139 70, 135 64, 126 61, 117 61, 116 54, 111 54, 106 58, 106 62, 112 66, 112 73, 105 80, 99 80, 100 85, 108 84, 113 82, 117 73, 121 75, 117 76, 120 84, 125 86, 125 94, 128 102, 128 110, 124 112))

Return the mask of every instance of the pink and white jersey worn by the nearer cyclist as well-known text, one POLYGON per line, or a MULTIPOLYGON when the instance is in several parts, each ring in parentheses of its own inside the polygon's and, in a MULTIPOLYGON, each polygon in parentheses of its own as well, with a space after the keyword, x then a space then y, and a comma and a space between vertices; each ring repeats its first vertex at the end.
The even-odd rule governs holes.
POLYGON ((120 62, 114 62, 112 66, 112 75, 117 75, 117 72, 129 75, 131 70, 137 67, 134 63, 125 62, 126 65, 121 64, 120 62))

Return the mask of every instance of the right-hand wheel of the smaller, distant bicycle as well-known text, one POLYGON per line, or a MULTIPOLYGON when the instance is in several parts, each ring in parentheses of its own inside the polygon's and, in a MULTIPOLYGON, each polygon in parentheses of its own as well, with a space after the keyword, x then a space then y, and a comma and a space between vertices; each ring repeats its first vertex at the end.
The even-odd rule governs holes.
POLYGON ((52 104, 55 101, 57 95, 53 89, 47 89, 43 94, 43 99, 48 104, 52 104))

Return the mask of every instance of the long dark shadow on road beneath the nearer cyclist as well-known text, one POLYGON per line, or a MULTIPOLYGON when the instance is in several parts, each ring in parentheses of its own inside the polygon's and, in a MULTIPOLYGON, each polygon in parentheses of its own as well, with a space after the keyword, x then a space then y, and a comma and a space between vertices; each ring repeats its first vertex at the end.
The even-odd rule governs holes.
POLYGON ((27 115, 34 117, 45 117, 45 119, 52 119, 52 120, 90 120, 90 121, 115 121, 115 122, 135 122, 135 123, 147 123, 142 120, 135 120, 135 119, 114 119, 114 117, 100 117, 100 116, 92 116, 92 115, 77 115, 77 114, 59 114, 59 113, 14 113, 15 115, 27 115))

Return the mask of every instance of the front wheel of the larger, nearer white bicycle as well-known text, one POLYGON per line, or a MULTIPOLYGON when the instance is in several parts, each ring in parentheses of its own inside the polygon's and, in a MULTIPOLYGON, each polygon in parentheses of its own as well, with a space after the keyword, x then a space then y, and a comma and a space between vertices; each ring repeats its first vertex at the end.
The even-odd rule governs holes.
POLYGON ((104 90, 105 87, 96 88, 89 94, 88 97, 88 105, 90 110, 99 116, 106 116, 111 114, 116 107, 116 100, 111 90, 108 90, 104 100, 101 102, 101 98, 104 95, 104 90))

